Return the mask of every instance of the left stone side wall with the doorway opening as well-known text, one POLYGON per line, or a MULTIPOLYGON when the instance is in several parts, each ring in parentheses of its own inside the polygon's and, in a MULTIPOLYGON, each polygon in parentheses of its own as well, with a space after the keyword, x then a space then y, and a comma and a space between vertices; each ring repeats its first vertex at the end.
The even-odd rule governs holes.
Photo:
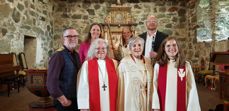
POLYGON ((44 66, 52 47, 52 4, 48 0, 0 0, 0 52, 23 52, 24 36, 34 37, 35 66, 44 66))

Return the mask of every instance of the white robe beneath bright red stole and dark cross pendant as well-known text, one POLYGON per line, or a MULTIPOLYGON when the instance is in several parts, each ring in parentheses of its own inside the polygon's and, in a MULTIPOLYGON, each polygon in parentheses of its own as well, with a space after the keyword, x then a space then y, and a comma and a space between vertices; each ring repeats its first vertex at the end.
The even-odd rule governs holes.
MULTIPOLYGON (((98 59, 98 72, 99 72, 99 86, 100 86, 100 107, 101 111, 110 111, 110 101, 109 101, 109 85, 108 85, 108 75, 106 69, 105 60, 98 59), (102 88, 103 84, 106 84, 107 88, 104 91, 102 88)), ((88 84, 88 61, 85 61, 82 65, 81 71, 79 73, 79 82, 77 89, 77 102, 78 109, 90 109, 89 108, 89 84, 88 84)))

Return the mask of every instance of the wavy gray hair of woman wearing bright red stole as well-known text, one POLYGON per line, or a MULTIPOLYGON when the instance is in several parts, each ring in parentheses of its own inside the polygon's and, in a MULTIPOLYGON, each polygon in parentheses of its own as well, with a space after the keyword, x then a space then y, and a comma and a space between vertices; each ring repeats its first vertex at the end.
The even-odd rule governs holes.
POLYGON ((104 45, 107 49, 107 52, 108 52, 108 43, 104 39, 97 38, 90 45, 90 48, 89 48, 88 54, 87 54, 87 60, 95 57, 95 54, 97 53, 97 47, 98 47, 99 43, 101 43, 101 42, 104 43, 104 45))

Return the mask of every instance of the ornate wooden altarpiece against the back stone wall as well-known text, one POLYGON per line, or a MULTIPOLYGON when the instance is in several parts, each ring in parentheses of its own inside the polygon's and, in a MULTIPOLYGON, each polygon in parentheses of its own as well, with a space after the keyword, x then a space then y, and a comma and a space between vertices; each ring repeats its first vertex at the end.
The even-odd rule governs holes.
POLYGON ((122 43, 122 28, 130 27, 135 34, 135 19, 131 15, 131 7, 121 4, 120 0, 117 4, 112 4, 109 7, 109 13, 104 19, 103 31, 104 39, 109 43, 109 56, 116 58, 114 50, 122 43))

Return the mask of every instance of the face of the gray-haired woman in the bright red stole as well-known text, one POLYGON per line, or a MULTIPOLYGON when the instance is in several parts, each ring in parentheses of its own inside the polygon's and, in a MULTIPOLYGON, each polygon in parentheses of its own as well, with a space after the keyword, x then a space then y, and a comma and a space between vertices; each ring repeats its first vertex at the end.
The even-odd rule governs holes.
POLYGON ((107 55, 107 47, 103 41, 98 42, 98 46, 96 48, 96 54, 95 57, 98 59, 105 59, 107 55))

